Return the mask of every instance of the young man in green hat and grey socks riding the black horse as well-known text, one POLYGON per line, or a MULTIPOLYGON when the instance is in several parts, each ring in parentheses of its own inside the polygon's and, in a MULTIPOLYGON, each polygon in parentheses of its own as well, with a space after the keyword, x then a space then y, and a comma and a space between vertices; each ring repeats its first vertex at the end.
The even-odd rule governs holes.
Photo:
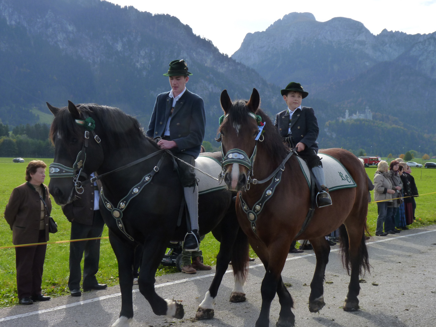
MULTIPOLYGON (((203 99, 186 89, 185 85, 191 75, 183 59, 170 62, 170 69, 164 76, 168 76, 170 80, 171 91, 157 96, 146 136, 162 138, 157 142, 161 149, 169 149, 176 157, 194 165, 204 139, 206 113, 203 99)), ((177 161, 191 219, 191 228, 185 235, 184 249, 198 251, 198 188, 194 169, 177 161)))

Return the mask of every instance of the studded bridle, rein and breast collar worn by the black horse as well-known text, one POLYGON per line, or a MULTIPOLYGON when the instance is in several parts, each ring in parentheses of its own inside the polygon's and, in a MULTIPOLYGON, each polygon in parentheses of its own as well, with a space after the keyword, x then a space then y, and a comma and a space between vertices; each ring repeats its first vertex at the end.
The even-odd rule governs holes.
MULTIPOLYGON (((81 126, 85 127, 85 139, 83 141, 83 145, 82 145, 82 150, 79 151, 79 153, 77 154, 76 157, 76 161, 73 164, 73 167, 67 167, 64 166, 62 164, 59 163, 51 163, 48 169, 48 176, 50 176, 50 178, 58 178, 58 177, 73 177, 73 181, 74 181, 74 187, 75 187, 75 191, 78 194, 82 194, 84 189, 83 189, 83 185, 88 185, 91 183, 94 183, 100 179, 102 179, 102 177, 105 177, 109 174, 113 174, 117 171, 129 168, 133 165, 139 164, 140 162, 150 159, 151 157, 154 157, 160 153, 163 153, 162 157, 160 158, 159 162, 157 163, 157 165, 153 168, 153 170, 146 174, 141 181, 136 184, 135 186, 133 186, 129 193, 122 198, 119 202, 118 205, 116 207, 113 206, 113 204, 106 198, 106 196, 103 193, 103 188, 100 191, 100 196, 102 198, 102 201, 105 205, 105 208, 107 210, 109 210, 112 214, 112 217, 115 218, 116 220, 116 225, 118 226, 119 230, 127 237, 129 238, 129 240, 134 241, 133 237, 130 236, 127 232, 126 232, 126 228, 124 226, 124 223, 122 221, 121 218, 123 218, 123 211, 126 210, 127 205, 129 204, 130 200, 132 200, 133 198, 135 198, 138 194, 140 194, 140 192, 142 191, 142 189, 150 183, 151 179, 153 178, 154 174, 156 174, 159 171, 159 167, 162 164, 162 162, 164 161, 164 157, 166 153, 170 153, 168 150, 158 150, 156 152, 153 152, 151 154, 149 154, 146 157, 140 158, 138 160, 135 160, 133 162, 131 162, 130 164, 126 164, 122 167, 116 168, 114 170, 111 170, 105 174, 101 174, 95 177, 92 177, 90 179, 88 179, 88 175, 85 174, 85 172, 83 172, 83 168, 85 167, 85 160, 86 160, 86 148, 88 147, 89 144, 89 132, 92 133, 92 135, 94 136, 94 140, 95 142, 97 142, 99 144, 99 146, 101 146, 100 142, 100 138, 98 135, 95 134, 94 129, 95 129, 95 121, 94 119, 92 119, 92 117, 89 117, 88 114, 86 112, 82 112, 83 116, 84 116, 84 120, 82 119, 75 119, 75 122, 81 126), (85 181, 81 182, 78 180, 78 178, 80 176, 85 177, 85 181)), ((170 153, 171 154, 171 153, 170 153)))

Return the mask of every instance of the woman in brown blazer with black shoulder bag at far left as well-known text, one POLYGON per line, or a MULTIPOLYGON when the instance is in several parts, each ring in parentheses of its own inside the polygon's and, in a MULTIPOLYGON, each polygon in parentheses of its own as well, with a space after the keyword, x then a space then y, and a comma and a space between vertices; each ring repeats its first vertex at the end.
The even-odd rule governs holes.
MULTIPOLYGON (((48 187, 42 184, 46 167, 44 161, 31 161, 26 168, 26 183, 15 187, 10 194, 4 218, 12 230, 14 245, 48 241, 51 200, 48 187), (41 198, 45 201, 47 209, 41 198)), ((41 294, 46 249, 46 244, 15 248, 17 291, 20 304, 50 300, 50 296, 41 294)))

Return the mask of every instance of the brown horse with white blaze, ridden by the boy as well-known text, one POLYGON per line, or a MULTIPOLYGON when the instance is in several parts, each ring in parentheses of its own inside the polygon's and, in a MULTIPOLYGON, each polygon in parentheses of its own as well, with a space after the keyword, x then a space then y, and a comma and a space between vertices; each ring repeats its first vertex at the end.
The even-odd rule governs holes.
MULTIPOLYGON (((266 269, 261 287, 262 307, 256 326, 269 326, 269 309, 276 293, 281 306, 276 326, 294 326, 295 316, 291 311, 293 300, 283 284, 281 272, 290 244, 306 218, 311 198, 295 154, 286 161, 281 177, 277 175, 264 184, 250 185, 254 178, 261 181, 269 177, 290 153, 269 117, 259 109, 259 105, 260 97, 256 89, 253 89, 248 102, 232 102, 226 90, 221 93, 221 106, 225 113, 219 128, 223 157, 240 160, 230 160, 229 164, 224 162, 223 177, 229 190, 240 191, 236 200, 238 221, 266 269), (256 115, 259 115, 257 121, 256 115), (262 125, 259 122, 266 124, 262 136, 256 141, 259 125, 262 125), (251 158, 247 160, 249 156, 251 158), (281 180, 271 194, 267 187, 272 180, 277 181, 278 177, 281 180), (255 206, 255 203, 262 196, 268 195, 271 195, 271 198, 265 202, 262 211, 256 216, 256 225, 252 228, 252 220, 255 217, 253 211, 260 208, 255 206), (247 207, 252 208, 251 213, 247 213, 247 207)), ((339 160, 354 178, 357 187, 331 192, 333 205, 317 208, 307 228, 298 236, 299 239, 310 240, 317 258, 310 284, 309 310, 318 312, 325 305, 323 282, 330 246, 324 235, 339 227, 343 263, 349 274, 351 269, 348 294, 343 308, 347 311, 358 310, 359 274, 362 270, 369 270, 364 235, 368 212, 368 181, 362 164, 352 153, 342 149, 323 150, 323 153, 339 160)))

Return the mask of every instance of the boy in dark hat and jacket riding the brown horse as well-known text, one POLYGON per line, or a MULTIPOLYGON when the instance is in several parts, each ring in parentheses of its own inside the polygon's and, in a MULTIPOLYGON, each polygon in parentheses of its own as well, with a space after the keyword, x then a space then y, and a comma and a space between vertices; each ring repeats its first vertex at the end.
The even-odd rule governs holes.
POLYGON ((274 126, 282 136, 283 142, 286 142, 290 148, 296 148, 299 156, 306 160, 321 185, 321 190, 318 190, 317 194, 318 207, 330 205, 331 198, 326 187, 323 166, 317 155, 319 132, 317 117, 313 108, 301 106, 301 101, 309 93, 296 82, 290 82, 280 93, 288 108, 276 115, 274 126))

